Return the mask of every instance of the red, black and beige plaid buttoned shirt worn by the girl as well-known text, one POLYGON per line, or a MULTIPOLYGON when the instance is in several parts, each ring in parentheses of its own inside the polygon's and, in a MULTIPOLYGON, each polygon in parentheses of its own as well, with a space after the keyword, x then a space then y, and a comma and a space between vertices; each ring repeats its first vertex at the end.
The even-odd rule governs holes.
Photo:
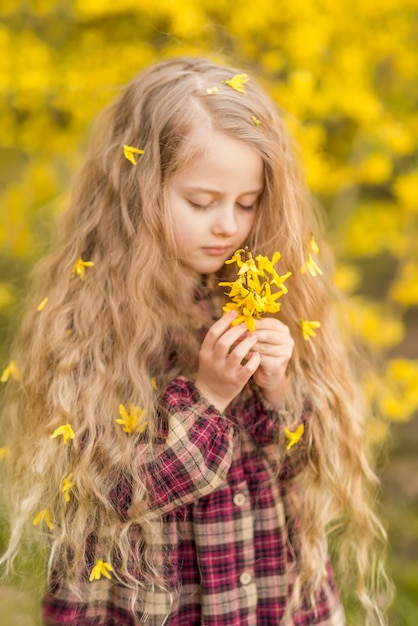
MULTIPOLYGON (((286 491, 306 464, 304 437, 278 466, 273 449, 284 425, 252 382, 221 415, 179 377, 164 390, 161 407, 168 436, 149 467, 147 515, 164 522, 156 557, 164 584, 144 591, 132 612, 132 592, 115 581, 86 581, 79 595, 61 581, 44 597, 44 624, 343 626, 329 563, 315 606, 303 597, 284 617, 297 553, 286 491)), ((122 481, 115 502, 121 523, 130 502, 122 481)), ((92 563, 100 556, 93 554, 92 563)))

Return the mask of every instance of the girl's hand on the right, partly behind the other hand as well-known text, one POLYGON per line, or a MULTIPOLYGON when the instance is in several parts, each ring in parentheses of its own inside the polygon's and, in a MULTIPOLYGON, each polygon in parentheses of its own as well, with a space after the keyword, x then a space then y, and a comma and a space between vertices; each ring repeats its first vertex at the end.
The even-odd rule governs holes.
POLYGON ((295 342, 286 324, 273 317, 257 320, 255 335, 257 343, 253 350, 260 355, 260 365, 254 380, 266 399, 280 409, 284 406, 286 368, 295 342))

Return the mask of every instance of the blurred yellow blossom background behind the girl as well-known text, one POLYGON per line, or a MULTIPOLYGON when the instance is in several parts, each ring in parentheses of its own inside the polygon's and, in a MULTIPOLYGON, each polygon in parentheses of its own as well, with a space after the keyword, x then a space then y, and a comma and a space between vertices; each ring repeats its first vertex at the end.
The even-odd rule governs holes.
MULTIPOLYGON (((380 416, 370 438, 381 445, 390 431, 393 440, 382 470, 398 586, 390 624, 416 626, 418 0, 1 0, 0 7, 0 371, 11 358, 8 338, 30 269, 66 207, 95 115, 162 58, 206 55, 242 67, 286 111, 326 212, 335 281, 349 295, 345 313, 381 355, 366 387, 380 416)), ((26 623, 7 619, 4 626, 26 623)))

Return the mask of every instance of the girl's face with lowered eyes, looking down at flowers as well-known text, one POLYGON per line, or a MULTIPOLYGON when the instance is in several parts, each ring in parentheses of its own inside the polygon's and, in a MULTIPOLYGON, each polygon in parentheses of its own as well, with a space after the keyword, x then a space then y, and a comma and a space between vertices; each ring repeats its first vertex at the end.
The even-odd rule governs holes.
POLYGON ((177 257, 210 274, 251 231, 264 187, 263 161, 249 144, 206 124, 191 139, 201 152, 169 181, 168 205, 177 257))

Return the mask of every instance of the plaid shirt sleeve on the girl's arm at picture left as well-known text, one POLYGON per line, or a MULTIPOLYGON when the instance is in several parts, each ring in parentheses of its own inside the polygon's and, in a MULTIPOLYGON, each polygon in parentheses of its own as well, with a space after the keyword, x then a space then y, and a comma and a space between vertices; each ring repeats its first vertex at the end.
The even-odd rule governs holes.
POLYGON ((183 377, 164 389, 159 411, 167 422, 167 436, 150 460, 137 448, 148 501, 135 506, 132 489, 122 478, 112 493, 122 519, 152 519, 208 495, 225 480, 232 462, 234 426, 208 404, 194 384, 183 377))

